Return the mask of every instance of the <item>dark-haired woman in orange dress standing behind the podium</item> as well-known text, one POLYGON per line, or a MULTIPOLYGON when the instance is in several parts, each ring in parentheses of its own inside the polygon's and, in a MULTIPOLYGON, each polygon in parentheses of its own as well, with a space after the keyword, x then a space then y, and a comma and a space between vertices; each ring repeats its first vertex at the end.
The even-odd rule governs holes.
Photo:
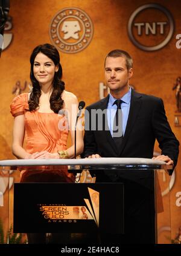
MULTIPOLYGON (((33 90, 22 93, 11 103, 11 114, 14 116, 13 154, 19 159, 73 158, 77 111, 72 113, 72 110, 77 109, 78 101, 73 93, 65 90, 61 80, 59 52, 51 44, 38 45, 30 56, 30 63, 33 90), (69 118, 65 113, 69 114, 69 118), (72 146, 67 149, 69 131, 72 146)), ((82 151, 83 132, 77 130, 77 155, 82 151)), ((21 171, 21 182, 74 182, 67 166, 33 168, 33 172, 28 167, 21 171)), ((43 238, 38 239, 38 243, 43 242, 43 238)), ((29 243, 36 243, 30 236, 28 240, 29 243)))

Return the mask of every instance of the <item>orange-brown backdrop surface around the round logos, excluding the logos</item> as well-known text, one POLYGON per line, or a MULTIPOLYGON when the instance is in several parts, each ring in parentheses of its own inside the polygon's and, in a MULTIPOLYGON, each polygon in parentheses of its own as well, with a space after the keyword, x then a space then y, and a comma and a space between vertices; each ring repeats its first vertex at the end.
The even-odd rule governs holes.
MULTIPOLYGON (((141 5, 150 1, 132 0, 11 0, 10 16, 13 27, 8 33, 13 34, 11 44, 2 52, 0 59, 0 158, 14 158, 11 154, 13 118, 10 115, 10 103, 14 97, 13 87, 17 81, 24 86, 30 83, 31 51, 38 44, 51 43, 49 24, 59 10, 77 7, 89 15, 94 25, 94 35, 90 44, 81 52, 68 54, 60 52, 63 67, 63 81, 66 90, 84 100, 86 105, 100 99, 99 83, 104 82, 104 58, 112 49, 124 49, 134 60, 134 75, 131 84, 138 92, 147 93, 164 99, 168 120, 178 140, 181 138, 181 127, 174 126, 176 114, 175 91, 172 90, 177 76, 181 76, 181 49, 176 48, 176 35, 181 33, 179 0, 155 0, 167 8, 174 18, 174 33, 168 44, 156 52, 145 52, 138 49, 129 39, 127 24, 130 15, 141 5)), ((145 19, 150 18, 145 13, 145 19)), ((163 17, 155 15, 157 21, 163 17)), ((7 32, 5 32, 7 33, 7 32)), ((145 37, 146 38, 146 37, 145 37)), ((28 92, 28 87, 25 89, 28 92)), ((181 120, 180 120, 181 121, 181 120)), ((160 152, 159 147, 155 150, 160 152)), ((180 157, 176 167, 176 179, 171 189, 171 229, 172 237, 176 236, 181 225, 181 206, 177 203, 176 194, 181 191, 180 157)), ((17 179, 17 177, 16 177, 17 179)), ((180 192, 181 194, 181 192, 180 192)), ((177 194, 178 195, 178 194, 177 194)), ((0 208, 1 211, 1 208, 0 208)), ((2 212, 0 212, 1 215, 2 212)), ((164 220, 162 220, 164 226, 164 220)))

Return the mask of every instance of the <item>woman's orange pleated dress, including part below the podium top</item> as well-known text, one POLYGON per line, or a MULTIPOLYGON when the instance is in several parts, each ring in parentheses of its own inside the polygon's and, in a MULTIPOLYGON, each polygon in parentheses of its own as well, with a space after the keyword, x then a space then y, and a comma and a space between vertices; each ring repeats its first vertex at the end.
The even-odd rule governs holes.
MULTIPOLYGON (((28 153, 48 151, 56 153, 65 150, 68 129, 60 130, 63 115, 29 111, 28 93, 16 96, 11 103, 13 116, 25 116, 25 150, 28 153), (59 123, 60 122, 60 123, 59 123)), ((22 168, 20 168, 22 170, 22 168)), ((67 166, 31 166, 23 167, 21 182, 73 182, 67 166), (29 170, 28 170, 29 169, 29 170), (31 169, 31 170, 30 170, 31 169), (33 169, 33 170, 32 170, 33 169)))

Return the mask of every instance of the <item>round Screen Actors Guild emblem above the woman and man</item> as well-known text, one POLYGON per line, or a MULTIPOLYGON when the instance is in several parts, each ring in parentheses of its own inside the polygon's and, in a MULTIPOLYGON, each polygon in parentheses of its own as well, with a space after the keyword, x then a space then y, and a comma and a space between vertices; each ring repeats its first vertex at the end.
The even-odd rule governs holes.
POLYGON ((92 35, 92 21, 80 8, 60 10, 49 25, 52 44, 65 53, 80 52, 89 45, 92 35))

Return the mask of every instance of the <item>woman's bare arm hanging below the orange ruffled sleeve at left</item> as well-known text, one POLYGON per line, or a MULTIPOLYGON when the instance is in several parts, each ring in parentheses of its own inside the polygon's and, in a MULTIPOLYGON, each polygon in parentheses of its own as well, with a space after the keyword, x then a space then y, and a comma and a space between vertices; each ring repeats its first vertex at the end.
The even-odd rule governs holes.
POLYGON ((25 116, 18 115, 14 117, 14 127, 13 127, 13 145, 12 151, 13 155, 18 159, 27 159, 31 157, 30 153, 27 153, 23 148, 25 136, 25 116))

